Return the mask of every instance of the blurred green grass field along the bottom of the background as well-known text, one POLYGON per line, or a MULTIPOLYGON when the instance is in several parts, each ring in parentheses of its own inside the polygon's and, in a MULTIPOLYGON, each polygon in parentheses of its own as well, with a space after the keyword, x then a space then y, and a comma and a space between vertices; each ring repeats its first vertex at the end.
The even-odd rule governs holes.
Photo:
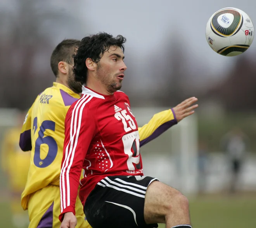
MULTIPOLYGON (((190 199, 193 228, 256 227, 256 196, 202 196, 190 199)), ((8 202, 0 203, 1 228, 14 228, 8 202)), ((159 228, 165 225, 160 224, 159 228)))

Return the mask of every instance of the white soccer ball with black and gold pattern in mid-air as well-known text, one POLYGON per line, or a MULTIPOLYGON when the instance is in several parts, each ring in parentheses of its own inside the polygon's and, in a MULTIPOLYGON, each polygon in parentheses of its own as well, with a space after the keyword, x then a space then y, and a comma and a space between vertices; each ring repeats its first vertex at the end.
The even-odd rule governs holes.
POLYGON ((210 17, 205 34, 209 46, 216 53, 236 56, 244 53, 252 44, 254 26, 244 11, 224 8, 210 17))

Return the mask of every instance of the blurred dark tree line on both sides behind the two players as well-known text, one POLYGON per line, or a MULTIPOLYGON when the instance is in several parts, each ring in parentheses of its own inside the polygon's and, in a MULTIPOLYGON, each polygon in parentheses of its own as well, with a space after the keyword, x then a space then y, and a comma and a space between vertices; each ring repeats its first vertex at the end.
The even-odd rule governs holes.
MULTIPOLYGON (((51 21, 65 24, 72 23, 74 18, 66 12, 42 7, 40 1, 22 0, 17 4, 15 12, 2 11, 0 14, 3 27, 0 36, 0 107, 26 110, 36 96, 55 80, 50 70, 50 54, 55 46, 52 34, 56 27, 51 21)), ((151 73, 153 77, 159 77, 159 83, 156 80, 157 89, 149 88, 146 96, 142 96, 139 89, 129 92, 128 87, 132 86, 129 74, 136 75, 132 69, 137 63, 128 63, 124 91, 130 96, 133 106, 170 107, 193 94, 200 101, 221 101, 226 111, 256 111, 256 66, 252 58, 240 55, 224 81, 206 92, 199 92, 188 83, 190 71, 185 67, 186 60, 180 49, 182 45, 177 45, 177 42, 167 42, 170 46, 166 47, 165 58, 154 60, 149 55, 149 61, 155 64, 151 66, 151 73)))

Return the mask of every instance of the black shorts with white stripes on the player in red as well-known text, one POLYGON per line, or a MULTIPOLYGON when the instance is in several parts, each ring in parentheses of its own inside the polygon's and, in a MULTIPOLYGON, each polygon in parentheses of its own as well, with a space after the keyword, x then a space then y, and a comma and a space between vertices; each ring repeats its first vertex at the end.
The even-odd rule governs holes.
POLYGON ((145 176, 111 176, 101 180, 84 205, 93 228, 156 228, 144 220, 145 193, 158 180, 145 176))

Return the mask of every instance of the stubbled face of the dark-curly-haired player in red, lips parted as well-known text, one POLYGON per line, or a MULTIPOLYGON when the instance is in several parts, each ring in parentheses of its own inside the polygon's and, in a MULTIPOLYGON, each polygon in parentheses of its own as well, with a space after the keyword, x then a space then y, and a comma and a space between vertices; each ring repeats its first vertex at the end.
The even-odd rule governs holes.
POLYGON ((97 79, 106 86, 110 93, 122 87, 123 77, 127 69, 124 63, 124 54, 121 48, 111 46, 106 51, 97 65, 97 79))

